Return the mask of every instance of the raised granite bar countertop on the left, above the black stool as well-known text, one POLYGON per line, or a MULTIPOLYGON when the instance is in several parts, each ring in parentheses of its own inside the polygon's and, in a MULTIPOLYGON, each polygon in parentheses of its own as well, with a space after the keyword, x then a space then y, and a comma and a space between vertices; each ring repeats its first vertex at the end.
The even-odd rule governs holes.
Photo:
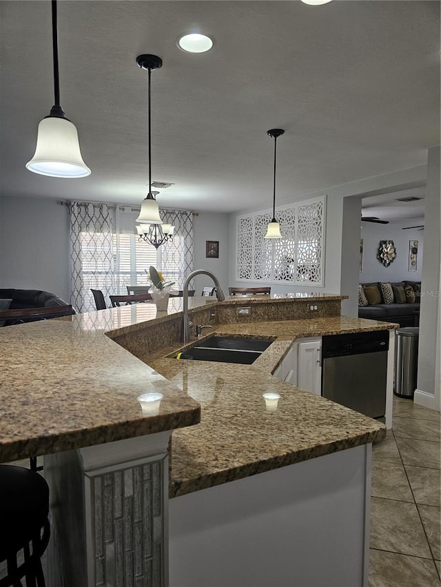
POLYGON ((181 303, 170 299, 168 313, 137 303, 0 328, 0 462, 197 423, 194 399, 105 336, 170 321, 181 303), (158 416, 143 416, 136 398, 147 392, 164 396, 158 416))

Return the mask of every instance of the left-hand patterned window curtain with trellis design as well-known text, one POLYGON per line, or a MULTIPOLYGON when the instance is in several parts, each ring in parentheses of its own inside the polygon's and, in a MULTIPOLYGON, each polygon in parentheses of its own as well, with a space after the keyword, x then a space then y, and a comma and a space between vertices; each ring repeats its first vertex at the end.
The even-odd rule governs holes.
POLYGON ((90 288, 105 299, 115 290, 115 211, 107 204, 70 202, 72 305, 79 312, 96 310, 90 288))

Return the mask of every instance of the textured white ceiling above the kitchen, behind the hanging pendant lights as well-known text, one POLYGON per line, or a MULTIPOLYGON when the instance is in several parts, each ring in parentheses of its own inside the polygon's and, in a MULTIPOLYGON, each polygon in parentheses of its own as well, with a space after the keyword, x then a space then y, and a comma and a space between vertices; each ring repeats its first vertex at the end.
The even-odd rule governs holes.
MULTIPOLYGON (((269 206, 424 164, 440 142, 438 1, 59 2, 61 105, 79 129, 84 179, 30 173, 53 103, 49 1, 0 2, 1 194, 139 204, 147 192, 147 74, 153 179, 165 207, 269 206), (178 34, 214 48, 192 55, 178 34)), ((370 215, 370 214, 369 214, 370 215)), ((378 214, 376 214, 378 215, 378 214)))

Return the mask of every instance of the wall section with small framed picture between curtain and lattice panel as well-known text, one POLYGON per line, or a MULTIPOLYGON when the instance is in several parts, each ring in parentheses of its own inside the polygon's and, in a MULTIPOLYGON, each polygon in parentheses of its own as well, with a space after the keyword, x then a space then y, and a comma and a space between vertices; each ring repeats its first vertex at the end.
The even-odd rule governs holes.
MULTIPOLYGON (((229 261, 229 215, 222 213, 199 212, 193 217, 194 234, 194 268, 208 269, 219 280, 225 295, 228 295, 228 261, 229 261), (205 242, 219 241, 219 258, 205 257, 205 242)), ((196 277, 196 293, 201 293, 205 286, 212 286, 212 280, 205 275, 196 277)))

